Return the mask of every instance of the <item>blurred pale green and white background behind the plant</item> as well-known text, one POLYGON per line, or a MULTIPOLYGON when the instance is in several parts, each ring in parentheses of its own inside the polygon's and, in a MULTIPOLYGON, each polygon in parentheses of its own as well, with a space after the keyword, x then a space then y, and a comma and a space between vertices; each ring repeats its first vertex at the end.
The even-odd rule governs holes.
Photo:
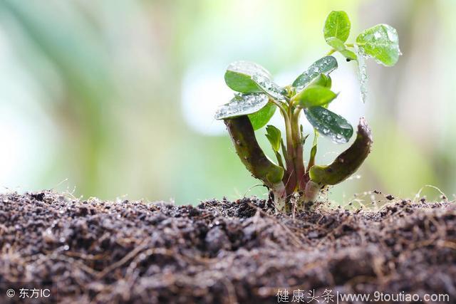
MULTIPOLYGON (((366 104, 356 63, 336 55, 341 94, 331 108, 353 124, 366 115, 375 145, 331 197, 343 203, 372 189, 413 197, 425 184, 452 196, 456 1, 448 0, 0 1, 0 191, 177 204, 264 195, 212 118, 232 95, 224 69, 255 61, 291 83, 329 51, 322 26, 331 10, 351 17, 348 42, 389 23, 403 52, 393 68, 368 63, 366 104)), ((264 130, 258 137, 271 154, 264 130)), ((321 140, 317 159, 346 147, 321 140)))

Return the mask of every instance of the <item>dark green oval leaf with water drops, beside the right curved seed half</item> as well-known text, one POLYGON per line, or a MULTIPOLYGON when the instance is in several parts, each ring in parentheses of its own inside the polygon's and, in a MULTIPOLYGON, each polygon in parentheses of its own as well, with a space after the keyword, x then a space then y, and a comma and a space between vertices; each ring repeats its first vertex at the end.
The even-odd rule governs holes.
POLYGON ((331 137, 333 142, 343 144, 353 135, 353 127, 340 115, 323 107, 304 109, 307 120, 323 136, 331 137))

